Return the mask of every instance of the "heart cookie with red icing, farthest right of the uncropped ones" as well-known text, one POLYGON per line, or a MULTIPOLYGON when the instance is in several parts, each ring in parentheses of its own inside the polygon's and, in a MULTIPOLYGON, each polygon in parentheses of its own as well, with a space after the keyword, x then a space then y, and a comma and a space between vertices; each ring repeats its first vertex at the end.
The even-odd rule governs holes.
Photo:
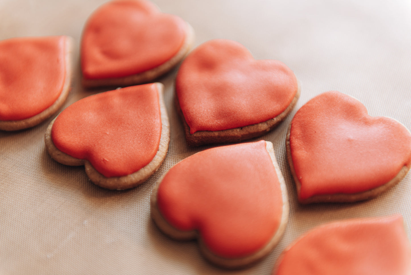
POLYGON ((286 147, 302 203, 373 198, 411 164, 411 134, 402 124, 371 117, 358 100, 335 91, 298 110, 286 147))

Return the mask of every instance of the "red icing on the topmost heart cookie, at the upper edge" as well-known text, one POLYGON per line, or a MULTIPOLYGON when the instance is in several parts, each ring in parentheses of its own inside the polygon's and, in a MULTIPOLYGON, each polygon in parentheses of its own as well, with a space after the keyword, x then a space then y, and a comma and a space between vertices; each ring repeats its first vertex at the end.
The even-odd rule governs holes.
POLYGON ((81 67, 88 79, 125 77, 169 61, 182 47, 187 23, 149 1, 116 0, 88 20, 81 43, 81 67))

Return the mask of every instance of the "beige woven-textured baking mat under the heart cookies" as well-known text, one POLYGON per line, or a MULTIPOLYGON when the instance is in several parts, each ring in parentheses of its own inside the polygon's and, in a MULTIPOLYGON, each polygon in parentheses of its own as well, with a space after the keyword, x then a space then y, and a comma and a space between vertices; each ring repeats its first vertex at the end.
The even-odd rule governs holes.
MULTIPOLYGON (((80 85, 79 41, 89 14, 104 0, 0 0, 0 39, 71 35, 76 40, 73 88, 64 107, 104 89, 80 85)), ((401 213, 411 228, 411 175, 379 198, 353 204, 299 205, 286 161, 288 124, 310 98, 339 90, 374 116, 411 129, 411 4, 409 1, 154 0, 196 31, 196 43, 228 38, 257 59, 286 63, 302 86, 289 117, 262 137, 274 144, 286 179, 291 213, 281 242, 252 268, 226 271, 203 260, 196 242, 176 242, 150 219, 156 180, 171 165, 205 149, 187 148, 175 108, 176 70, 164 83, 171 122, 169 153, 148 182, 107 191, 83 167, 51 159, 43 136, 51 119, 26 131, 0 132, 0 274, 270 274, 279 253, 327 221, 401 213), (358 2, 361 2, 359 4, 358 2)), ((1 66, 2 64, 0 64, 1 66)), ((411 237, 411 229, 407 229, 411 237)))

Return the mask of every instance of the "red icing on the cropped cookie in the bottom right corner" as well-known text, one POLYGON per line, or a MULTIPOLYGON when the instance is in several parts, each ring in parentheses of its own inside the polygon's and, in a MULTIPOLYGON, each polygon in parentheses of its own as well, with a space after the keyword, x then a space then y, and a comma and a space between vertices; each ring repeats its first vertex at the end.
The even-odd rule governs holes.
POLYGON ((273 274, 409 275, 411 247, 402 217, 337 221, 317 227, 284 251, 273 274))

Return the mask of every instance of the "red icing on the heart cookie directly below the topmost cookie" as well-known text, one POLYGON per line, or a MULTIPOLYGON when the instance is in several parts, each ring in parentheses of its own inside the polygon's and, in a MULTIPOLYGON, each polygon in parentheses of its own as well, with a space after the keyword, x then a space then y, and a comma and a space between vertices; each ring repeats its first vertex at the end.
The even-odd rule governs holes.
POLYGON ((62 152, 90 161, 105 177, 129 175, 159 148, 157 85, 130 86, 83 98, 55 119, 51 138, 62 152))

